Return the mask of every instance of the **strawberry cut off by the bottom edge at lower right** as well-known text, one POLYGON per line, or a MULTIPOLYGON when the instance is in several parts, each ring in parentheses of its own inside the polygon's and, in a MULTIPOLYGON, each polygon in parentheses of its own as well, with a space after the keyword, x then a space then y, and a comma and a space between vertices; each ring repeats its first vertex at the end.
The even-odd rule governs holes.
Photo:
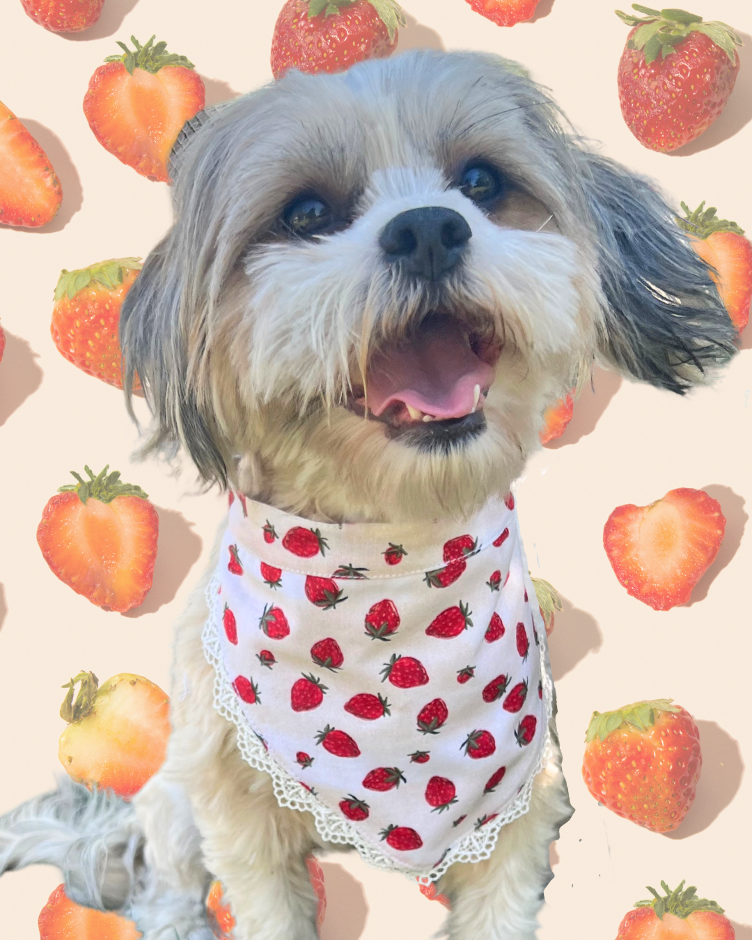
POLYGON ((734 940, 733 925, 715 901, 697 898, 697 888, 683 889, 683 882, 673 891, 666 882, 661 887, 666 896, 648 887, 652 900, 636 902, 619 924, 617 940, 734 940))

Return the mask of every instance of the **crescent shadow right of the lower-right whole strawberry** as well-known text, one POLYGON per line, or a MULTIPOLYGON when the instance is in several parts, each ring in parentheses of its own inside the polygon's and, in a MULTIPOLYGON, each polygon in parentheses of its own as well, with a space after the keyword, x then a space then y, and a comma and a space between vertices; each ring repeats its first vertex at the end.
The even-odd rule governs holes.
POLYGON ((729 806, 742 785, 744 760, 738 742, 714 721, 696 720, 696 724, 702 747, 697 796, 682 825, 674 832, 667 832, 666 838, 688 838, 707 829, 721 810, 729 806))

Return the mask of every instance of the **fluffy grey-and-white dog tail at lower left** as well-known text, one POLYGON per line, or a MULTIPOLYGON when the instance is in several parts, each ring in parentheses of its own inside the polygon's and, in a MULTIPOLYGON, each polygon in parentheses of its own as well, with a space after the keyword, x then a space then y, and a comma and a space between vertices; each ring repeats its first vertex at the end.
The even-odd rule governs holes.
POLYGON ((64 776, 56 791, 0 816, 0 875, 26 865, 56 865, 71 901, 117 911, 131 900, 144 841, 130 803, 64 776))

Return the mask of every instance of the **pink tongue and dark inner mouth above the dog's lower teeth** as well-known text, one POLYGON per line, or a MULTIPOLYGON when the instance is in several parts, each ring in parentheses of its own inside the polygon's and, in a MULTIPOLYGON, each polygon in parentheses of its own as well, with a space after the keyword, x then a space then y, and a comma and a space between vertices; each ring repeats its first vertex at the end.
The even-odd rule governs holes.
POLYGON ((368 367, 368 409, 381 415, 394 401, 434 417, 473 411, 474 390, 493 382, 457 321, 429 317, 412 339, 377 352, 368 367))

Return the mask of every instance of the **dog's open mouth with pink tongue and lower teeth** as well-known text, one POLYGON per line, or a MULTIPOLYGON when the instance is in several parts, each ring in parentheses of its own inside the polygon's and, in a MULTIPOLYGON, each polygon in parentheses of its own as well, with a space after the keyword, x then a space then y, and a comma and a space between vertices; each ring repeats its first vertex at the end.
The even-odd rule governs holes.
POLYGON ((409 336, 384 344, 368 363, 368 393, 355 388, 348 406, 392 431, 478 424, 501 345, 447 314, 431 313, 409 336))

